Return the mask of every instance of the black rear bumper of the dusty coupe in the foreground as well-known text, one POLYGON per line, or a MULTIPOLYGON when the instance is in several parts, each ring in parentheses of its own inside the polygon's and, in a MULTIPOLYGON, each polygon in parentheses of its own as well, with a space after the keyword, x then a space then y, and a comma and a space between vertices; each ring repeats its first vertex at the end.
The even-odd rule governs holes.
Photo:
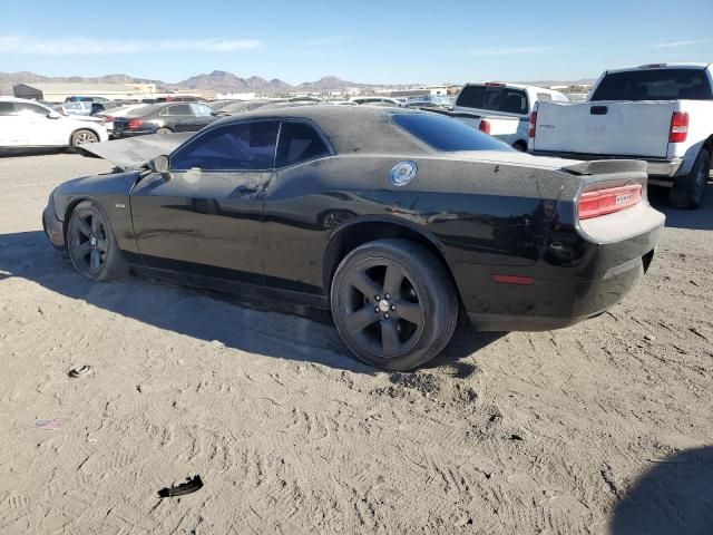
POLYGON ((618 241, 596 243, 586 234, 560 234, 549 241, 535 265, 469 266, 461 286, 466 311, 482 331, 543 331, 561 329, 599 315, 618 303, 642 280, 655 255, 663 214, 643 207, 642 226, 618 241), (495 274, 531 278, 531 284, 495 282, 495 274))

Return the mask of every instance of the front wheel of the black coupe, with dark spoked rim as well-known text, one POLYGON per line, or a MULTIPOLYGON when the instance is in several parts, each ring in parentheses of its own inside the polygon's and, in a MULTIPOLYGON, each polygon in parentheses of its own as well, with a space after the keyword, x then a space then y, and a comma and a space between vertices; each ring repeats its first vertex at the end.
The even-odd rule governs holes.
POLYGON ((92 281, 108 281, 129 271, 101 206, 84 201, 67 225, 67 250, 75 270, 92 281))

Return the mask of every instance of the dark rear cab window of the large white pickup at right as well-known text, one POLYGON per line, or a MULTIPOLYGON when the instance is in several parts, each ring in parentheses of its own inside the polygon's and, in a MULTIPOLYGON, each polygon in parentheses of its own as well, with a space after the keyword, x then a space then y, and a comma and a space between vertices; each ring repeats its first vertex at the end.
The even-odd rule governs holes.
POLYGON ((606 75, 592 100, 709 100, 703 69, 631 70, 606 75))

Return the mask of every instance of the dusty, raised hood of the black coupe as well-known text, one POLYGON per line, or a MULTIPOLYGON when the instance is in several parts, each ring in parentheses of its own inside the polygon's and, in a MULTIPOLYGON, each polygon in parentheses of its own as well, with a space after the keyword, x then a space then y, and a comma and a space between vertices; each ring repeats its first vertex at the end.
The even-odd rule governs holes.
POLYGON ((138 169, 146 162, 162 154, 170 154, 178 145, 195 132, 183 134, 154 134, 129 137, 105 143, 89 143, 76 147, 77 152, 89 158, 102 158, 111 162, 121 171, 138 169))

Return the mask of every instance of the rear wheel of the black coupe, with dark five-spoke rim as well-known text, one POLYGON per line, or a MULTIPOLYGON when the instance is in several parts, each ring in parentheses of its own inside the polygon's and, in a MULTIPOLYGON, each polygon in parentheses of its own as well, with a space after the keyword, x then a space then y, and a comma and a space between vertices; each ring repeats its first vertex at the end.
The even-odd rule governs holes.
POLYGON ((409 370, 437 357, 458 321, 448 271, 407 240, 379 240, 348 254, 332 281, 331 307, 346 347, 387 370, 409 370))

